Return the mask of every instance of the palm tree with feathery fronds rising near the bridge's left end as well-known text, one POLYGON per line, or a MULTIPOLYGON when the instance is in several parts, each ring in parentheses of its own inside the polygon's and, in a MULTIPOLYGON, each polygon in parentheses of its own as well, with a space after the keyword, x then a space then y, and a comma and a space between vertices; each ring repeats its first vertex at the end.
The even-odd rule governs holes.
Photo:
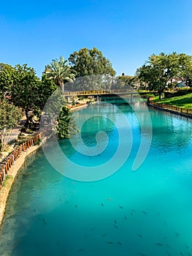
POLYGON ((69 81, 71 83, 75 80, 75 75, 69 65, 66 64, 67 60, 64 57, 58 59, 53 59, 50 64, 45 66, 45 75, 47 78, 53 79, 55 83, 64 91, 64 82, 69 81))

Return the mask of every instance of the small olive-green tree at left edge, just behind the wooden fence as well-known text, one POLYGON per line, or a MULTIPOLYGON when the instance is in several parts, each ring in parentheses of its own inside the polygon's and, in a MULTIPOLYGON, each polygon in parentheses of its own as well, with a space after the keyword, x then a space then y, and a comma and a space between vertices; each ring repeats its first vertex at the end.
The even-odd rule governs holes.
POLYGON ((11 129, 17 127, 20 122, 21 111, 15 105, 1 99, 0 102, 0 142, 1 151, 7 146, 9 132, 11 129))

